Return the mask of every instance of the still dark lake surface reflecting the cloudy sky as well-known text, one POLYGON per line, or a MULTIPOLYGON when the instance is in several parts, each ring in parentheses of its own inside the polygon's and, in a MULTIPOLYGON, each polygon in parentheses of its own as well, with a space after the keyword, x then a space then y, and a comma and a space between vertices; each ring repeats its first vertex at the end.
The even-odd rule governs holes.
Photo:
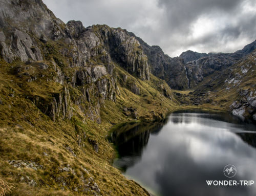
POLYGON ((111 134, 114 165, 156 195, 256 195, 256 126, 228 114, 173 113, 126 124, 111 134), (223 168, 237 168, 233 178, 223 168), (254 180, 252 186, 208 186, 206 180, 254 180))

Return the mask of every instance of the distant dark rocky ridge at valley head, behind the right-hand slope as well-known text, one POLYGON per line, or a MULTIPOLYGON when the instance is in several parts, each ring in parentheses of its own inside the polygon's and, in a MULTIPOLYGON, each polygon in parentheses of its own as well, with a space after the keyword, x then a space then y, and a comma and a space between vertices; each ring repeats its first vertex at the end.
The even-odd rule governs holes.
POLYGON ((234 53, 183 52, 179 57, 169 57, 159 46, 149 46, 141 38, 135 37, 146 54, 151 73, 164 79, 175 90, 194 89, 205 77, 230 67, 256 48, 256 40, 234 53))

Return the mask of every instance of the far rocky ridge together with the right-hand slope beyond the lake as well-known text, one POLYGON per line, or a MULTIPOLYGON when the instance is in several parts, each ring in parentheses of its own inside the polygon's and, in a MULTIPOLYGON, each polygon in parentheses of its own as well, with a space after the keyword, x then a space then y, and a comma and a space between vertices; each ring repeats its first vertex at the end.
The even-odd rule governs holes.
POLYGON ((255 120, 253 56, 256 40, 233 53, 186 51, 179 58, 171 58, 160 47, 148 46, 139 37, 136 39, 141 43, 154 75, 166 80, 173 89, 191 89, 189 94, 175 92, 181 103, 216 108, 242 119, 255 120))

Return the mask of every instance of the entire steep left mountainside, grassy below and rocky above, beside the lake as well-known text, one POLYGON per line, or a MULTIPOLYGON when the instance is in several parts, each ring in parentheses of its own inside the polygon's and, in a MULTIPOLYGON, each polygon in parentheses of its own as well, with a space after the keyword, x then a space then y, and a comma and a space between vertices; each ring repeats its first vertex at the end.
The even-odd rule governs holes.
POLYGON ((115 123, 179 108, 137 39, 4 0, 0 51, 0 178, 12 195, 149 195, 111 166, 106 139, 115 123))

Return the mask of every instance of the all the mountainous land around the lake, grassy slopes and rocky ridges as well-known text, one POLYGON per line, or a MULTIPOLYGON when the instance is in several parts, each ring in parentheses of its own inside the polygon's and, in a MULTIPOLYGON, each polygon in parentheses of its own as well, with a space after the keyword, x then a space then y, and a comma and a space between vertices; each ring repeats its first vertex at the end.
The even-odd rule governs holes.
POLYGON ((150 195, 113 167, 113 127, 182 110, 256 120, 255 41, 172 58, 121 28, 65 24, 41 0, 0 11, 2 195, 150 195))

